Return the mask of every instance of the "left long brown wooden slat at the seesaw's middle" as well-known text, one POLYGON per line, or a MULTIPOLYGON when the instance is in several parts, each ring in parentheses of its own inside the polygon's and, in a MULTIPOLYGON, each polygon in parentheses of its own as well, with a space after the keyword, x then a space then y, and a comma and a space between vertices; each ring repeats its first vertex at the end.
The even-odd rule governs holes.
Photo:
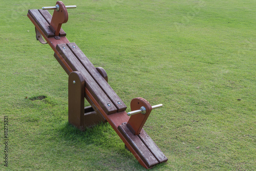
POLYGON ((117 109, 112 101, 105 95, 105 93, 101 90, 92 76, 88 73, 88 71, 82 66, 80 61, 76 58, 73 52, 68 48, 66 44, 58 44, 56 46, 57 51, 60 55, 67 61, 68 65, 71 67, 73 71, 79 71, 84 80, 86 81, 85 87, 90 91, 93 97, 98 101, 101 108, 104 110, 106 114, 116 113, 117 109), (65 47, 65 49, 63 48, 65 47), (110 106, 108 106, 110 104, 110 106))

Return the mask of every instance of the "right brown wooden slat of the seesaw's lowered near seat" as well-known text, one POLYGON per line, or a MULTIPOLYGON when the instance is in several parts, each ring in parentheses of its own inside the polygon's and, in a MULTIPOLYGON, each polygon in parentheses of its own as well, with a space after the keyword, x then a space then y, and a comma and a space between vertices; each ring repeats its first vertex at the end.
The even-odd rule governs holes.
POLYGON ((151 153, 156 157, 159 163, 166 162, 168 159, 163 154, 161 149, 158 148, 156 143, 147 135, 147 133, 142 129, 140 134, 138 135, 142 142, 147 146, 147 148, 151 151, 151 153))

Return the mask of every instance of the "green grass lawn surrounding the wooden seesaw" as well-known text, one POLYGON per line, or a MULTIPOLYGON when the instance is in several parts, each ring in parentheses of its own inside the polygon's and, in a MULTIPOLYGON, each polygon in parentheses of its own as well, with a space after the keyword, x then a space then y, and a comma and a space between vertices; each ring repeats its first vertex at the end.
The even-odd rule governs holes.
MULTIPOLYGON (((127 111, 135 97, 163 103, 144 125, 168 158, 152 170, 256 170, 255 1, 63 3, 77 5, 67 38, 106 70, 127 111)), ((109 123, 68 124, 68 75, 27 17, 53 5, 1 2, 0 170, 144 170, 109 123)))

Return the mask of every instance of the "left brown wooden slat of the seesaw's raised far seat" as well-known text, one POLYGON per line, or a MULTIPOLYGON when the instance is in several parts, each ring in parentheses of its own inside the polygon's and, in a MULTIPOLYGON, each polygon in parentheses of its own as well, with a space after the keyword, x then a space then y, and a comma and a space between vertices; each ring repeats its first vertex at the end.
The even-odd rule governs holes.
POLYGON ((29 10, 28 13, 47 37, 54 37, 54 33, 49 28, 49 23, 38 10, 29 10))

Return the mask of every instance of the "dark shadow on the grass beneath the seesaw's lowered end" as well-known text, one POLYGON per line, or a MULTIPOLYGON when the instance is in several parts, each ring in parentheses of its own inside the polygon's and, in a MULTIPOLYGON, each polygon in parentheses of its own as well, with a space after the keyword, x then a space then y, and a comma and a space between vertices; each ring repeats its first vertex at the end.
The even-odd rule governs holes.
MULTIPOLYGON (((118 156, 120 155, 124 159, 132 159, 132 163, 130 164, 133 169, 138 168, 140 170, 145 170, 144 167, 137 162, 132 153, 125 149, 124 143, 109 123, 100 123, 92 128, 86 129, 84 132, 81 132, 76 127, 66 122, 59 129, 58 136, 63 141, 66 141, 67 143, 70 143, 70 145, 75 145, 79 148, 89 145, 91 146, 91 144, 93 144, 94 146, 109 151, 109 153, 115 152, 118 154, 118 156)), ((118 156, 112 157, 116 158, 118 156)), ((111 160, 115 161, 116 159, 111 160)), ((158 170, 159 168, 163 167, 166 167, 166 163, 158 164, 152 170, 158 170)))

